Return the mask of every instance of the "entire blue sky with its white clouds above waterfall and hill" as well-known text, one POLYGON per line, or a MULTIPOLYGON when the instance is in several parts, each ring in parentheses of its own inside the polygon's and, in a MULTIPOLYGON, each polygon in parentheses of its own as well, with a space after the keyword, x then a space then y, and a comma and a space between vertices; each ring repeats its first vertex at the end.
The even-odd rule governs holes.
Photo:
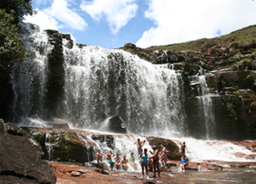
POLYGON ((254 0, 33 0, 25 22, 106 49, 219 37, 256 24, 254 0))

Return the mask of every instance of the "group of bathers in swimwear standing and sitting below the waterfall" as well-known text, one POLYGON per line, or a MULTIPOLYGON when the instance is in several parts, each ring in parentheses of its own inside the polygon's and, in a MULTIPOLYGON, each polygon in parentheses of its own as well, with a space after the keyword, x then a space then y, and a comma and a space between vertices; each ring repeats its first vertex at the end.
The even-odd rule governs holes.
MULTIPOLYGON (((137 145, 137 154, 138 154, 138 160, 139 163, 141 164, 141 173, 142 173, 142 178, 145 177, 145 172, 146 171, 146 177, 149 178, 148 176, 148 170, 151 168, 151 166, 153 166, 153 177, 156 177, 156 172, 158 173, 158 177, 160 177, 160 171, 159 171, 159 160, 164 164, 167 165, 167 154, 168 154, 168 150, 166 147, 164 147, 164 145, 161 145, 161 151, 159 151, 157 149, 157 147, 153 146, 152 150, 150 151, 151 156, 148 156, 147 153, 147 148, 144 149, 144 151, 142 151, 142 147, 145 144, 144 142, 141 142, 140 139, 137 139, 137 142, 134 142, 134 144, 137 145)), ((181 145, 181 154, 182 154, 182 159, 181 159, 181 170, 185 171, 185 167, 188 164, 188 160, 186 159, 185 156, 185 142, 180 142, 181 145)), ((114 157, 114 160, 112 160, 112 155, 113 152, 112 151, 108 151, 108 153, 106 154, 106 160, 107 163, 110 164, 110 169, 112 170, 115 166, 116 169, 121 169, 121 165, 123 166, 124 170, 128 169, 128 164, 130 164, 132 166, 132 168, 134 169, 136 167, 136 164, 134 162, 134 154, 133 152, 131 153, 130 156, 128 156, 128 159, 126 158, 126 156, 123 157, 123 159, 121 159, 121 157, 119 156, 119 154, 117 153, 116 156, 114 157)), ((102 153, 101 150, 98 150, 97 152, 97 163, 99 163, 99 161, 102 161, 102 153)))

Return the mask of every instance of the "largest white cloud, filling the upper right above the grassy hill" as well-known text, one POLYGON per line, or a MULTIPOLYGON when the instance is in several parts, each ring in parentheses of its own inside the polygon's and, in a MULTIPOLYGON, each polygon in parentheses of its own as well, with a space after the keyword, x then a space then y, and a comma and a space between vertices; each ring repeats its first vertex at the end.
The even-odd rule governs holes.
POLYGON ((216 37, 256 23, 256 2, 251 0, 150 0, 146 18, 155 27, 146 30, 140 47, 216 37))

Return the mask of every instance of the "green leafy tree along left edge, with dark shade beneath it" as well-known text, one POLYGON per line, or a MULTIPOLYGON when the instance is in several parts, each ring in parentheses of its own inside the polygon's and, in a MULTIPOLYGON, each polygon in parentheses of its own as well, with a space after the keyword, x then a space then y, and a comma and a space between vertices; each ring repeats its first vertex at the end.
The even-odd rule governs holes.
POLYGON ((0 0, 0 118, 6 121, 12 120, 12 66, 29 56, 25 38, 20 37, 17 24, 24 15, 33 13, 31 0, 0 0))

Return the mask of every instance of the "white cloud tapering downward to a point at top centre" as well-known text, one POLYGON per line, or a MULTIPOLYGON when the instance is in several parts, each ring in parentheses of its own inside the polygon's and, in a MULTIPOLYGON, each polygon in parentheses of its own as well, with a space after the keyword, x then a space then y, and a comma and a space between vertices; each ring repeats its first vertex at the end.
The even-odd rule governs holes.
POLYGON ((106 17, 111 33, 115 34, 136 15, 138 6, 135 2, 136 0, 93 0, 93 2, 83 1, 80 7, 93 20, 106 17))

